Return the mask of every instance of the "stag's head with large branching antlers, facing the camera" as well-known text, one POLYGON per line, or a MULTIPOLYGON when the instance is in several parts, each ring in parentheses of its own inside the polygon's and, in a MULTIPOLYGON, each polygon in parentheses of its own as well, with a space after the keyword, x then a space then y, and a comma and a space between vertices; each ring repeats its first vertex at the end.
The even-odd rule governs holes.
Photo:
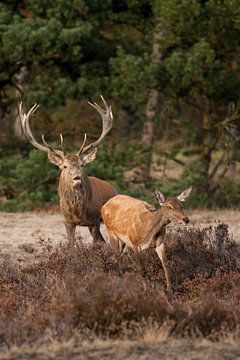
POLYGON ((84 165, 96 158, 98 146, 112 128, 113 115, 111 106, 107 105, 103 96, 101 96, 101 99, 104 103, 104 108, 90 101, 88 104, 92 106, 102 118, 102 133, 95 142, 89 145, 85 145, 87 139, 85 134, 79 151, 74 155, 65 154, 62 134, 60 134, 61 150, 53 149, 52 146, 46 142, 44 135, 42 135, 42 144, 37 142, 31 131, 29 119, 39 106, 35 104, 27 113, 24 113, 22 103, 19 105, 19 118, 25 136, 36 149, 47 153, 49 161, 61 169, 61 179, 72 187, 83 184, 85 176, 84 165))

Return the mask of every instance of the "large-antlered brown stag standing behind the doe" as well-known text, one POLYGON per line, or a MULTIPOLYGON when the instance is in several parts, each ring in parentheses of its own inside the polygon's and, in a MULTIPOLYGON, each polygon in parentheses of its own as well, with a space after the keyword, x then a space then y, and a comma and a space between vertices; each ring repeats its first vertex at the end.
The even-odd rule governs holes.
POLYGON ((100 232, 100 209, 111 197, 116 195, 116 190, 106 181, 96 177, 87 176, 84 165, 93 161, 96 157, 98 146, 112 128, 113 115, 111 106, 108 106, 103 96, 104 109, 98 104, 88 102, 102 118, 102 133, 93 143, 86 145, 86 134, 80 150, 75 155, 65 155, 63 149, 63 137, 60 134, 61 149, 53 149, 42 135, 42 144, 38 143, 31 131, 29 119, 35 113, 38 105, 35 104, 27 114, 19 105, 19 117, 24 134, 30 143, 40 151, 48 155, 50 162, 61 169, 58 194, 60 209, 65 219, 65 228, 69 240, 75 240, 77 225, 88 226, 93 237, 93 242, 104 241, 100 232), (89 152, 89 150, 91 150, 89 152), (87 154, 87 152, 89 152, 87 154))

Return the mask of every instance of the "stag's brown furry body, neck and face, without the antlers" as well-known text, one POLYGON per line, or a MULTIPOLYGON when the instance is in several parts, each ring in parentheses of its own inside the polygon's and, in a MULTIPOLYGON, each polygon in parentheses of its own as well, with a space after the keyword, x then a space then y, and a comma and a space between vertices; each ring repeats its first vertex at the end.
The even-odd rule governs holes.
POLYGON ((88 226, 94 241, 103 240, 100 233, 101 207, 117 191, 106 181, 87 176, 81 158, 67 156, 59 179, 61 212, 69 239, 74 239, 77 225, 88 226), (64 166, 67 166, 64 169, 64 166), (78 178, 75 181, 74 178, 78 178))

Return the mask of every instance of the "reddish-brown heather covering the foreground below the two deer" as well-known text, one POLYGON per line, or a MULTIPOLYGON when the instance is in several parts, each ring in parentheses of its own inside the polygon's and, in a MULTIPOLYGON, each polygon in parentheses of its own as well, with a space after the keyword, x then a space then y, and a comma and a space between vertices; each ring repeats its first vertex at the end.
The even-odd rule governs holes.
POLYGON ((2 349, 67 342, 76 333, 81 342, 144 341, 146 329, 148 337, 152 331, 165 339, 237 336, 240 244, 227 226, 172 230, 167 245, 170 302, 154 251, 142 254, 141 273, 129 256, 117 258, 107 244, 93 249, 80 241, 74 247, 42 241, 31 265, 6 258, 0 265, 2 349))

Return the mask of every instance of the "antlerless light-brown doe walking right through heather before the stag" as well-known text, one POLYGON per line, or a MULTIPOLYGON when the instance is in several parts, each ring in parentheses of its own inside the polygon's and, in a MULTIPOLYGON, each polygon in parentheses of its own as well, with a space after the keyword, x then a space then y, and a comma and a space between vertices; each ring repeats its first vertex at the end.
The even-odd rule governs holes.
POLYGON ((167 199, 156 190, 159 209, 127 195, 116 195, 101 209, 110 244, 118 253, 121 253, 125 246, 131 248, 140 265, 139 251, 150 247, 156 249, 164 269, 168 292, 172 291, 172 284, 165 255, 166 225, 171 221, 186 224, 189 222, 182 202, 190 195, 191 190, 192 187, 189 187, 178 197, 167 199))

